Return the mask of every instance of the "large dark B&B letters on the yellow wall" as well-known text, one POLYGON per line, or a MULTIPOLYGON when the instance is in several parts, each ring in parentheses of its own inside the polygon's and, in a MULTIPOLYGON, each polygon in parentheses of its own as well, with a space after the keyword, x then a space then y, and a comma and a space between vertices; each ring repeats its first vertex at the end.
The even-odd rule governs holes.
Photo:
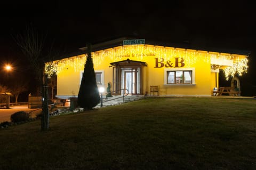
POLYGON ((162 67, 184 67, 184 59, 183 58, 174 58, 175 63, 171 62, 170 60, 167 60, 166 62, 164 61, 163 58, 155 58, 155 68, 162 68, 162 67))

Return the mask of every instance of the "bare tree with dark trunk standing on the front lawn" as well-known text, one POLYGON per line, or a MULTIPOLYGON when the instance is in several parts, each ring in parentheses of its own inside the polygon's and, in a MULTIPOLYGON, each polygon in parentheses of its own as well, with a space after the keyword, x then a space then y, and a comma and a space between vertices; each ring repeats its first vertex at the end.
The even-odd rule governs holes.
POLYGON ((34 71, 37 77, 38 83, 42 87, 42 119, 41 119, 41 131, 47 131, 49 129, 49 109, 48 109, 48 79, 52 76, 49 74, 51 67, 48 65, 45 67, 45 63, 53 61, 55 55, 53 55, 53 45, 50 49, 45 50, 45 35, 40 35, 33 26, 28 26, 25 33, 18 34, 14 37, 17 44, 21 47, 23 54, 28 59, 29 66, 34 71), (45 54, 44 54, 45 53, 45 54))

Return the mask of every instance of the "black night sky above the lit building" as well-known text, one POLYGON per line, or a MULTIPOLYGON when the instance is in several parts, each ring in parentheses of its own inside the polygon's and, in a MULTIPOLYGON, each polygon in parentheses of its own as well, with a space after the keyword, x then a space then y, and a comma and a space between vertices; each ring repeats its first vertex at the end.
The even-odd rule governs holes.
MULTIPOLYGON (((251 89, 245 95, 256 95, 256 12, 252 1, 153 2, 1 2, 1 68, 6 62, 13 64, 15 71, 9 78, 27 74, 25 57, 12 36, 28 25, 46 35, 46 46, 54 42, 60 53, 76 51, 86 43, 137 36, 146 43, 147 39, 186 43, 198 50, 215 47, 251 51, 249 72, 241 78, 241 85, 251 89)), ((0 74, 0 84, 4 84, 6 72, 0 74)))

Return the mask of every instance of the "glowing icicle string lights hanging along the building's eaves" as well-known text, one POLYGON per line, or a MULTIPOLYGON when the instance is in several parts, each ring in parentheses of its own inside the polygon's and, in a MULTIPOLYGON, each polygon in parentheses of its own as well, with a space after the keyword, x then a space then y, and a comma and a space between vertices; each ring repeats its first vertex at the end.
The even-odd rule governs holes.
MULTIPOLYGON (((165 61, 173 58, 184 58, 186 67, 196 67, 198 61, 211 63, 211 70, 224 69, 226 78, 234 77, 236 72, 242 75, 247 72, 247 59, 245 55, 232 55, 227 53, 197 51, 185 48, 174 48, 154 45, 124 45, 105 50, 92 52, 94 66, 100 66, 103 61, 115 62, 124 59, 143 60, 148 58, 164 58, 165 61), (218 62, 214 63, 214 62, 218 62), (233 64, 233 66, 231 66, 233 64)), ((75 72, 84 68, 87 54, 73 56, 45 64, 45 73, 52 76, 65 69, 74 69, 75 72)))

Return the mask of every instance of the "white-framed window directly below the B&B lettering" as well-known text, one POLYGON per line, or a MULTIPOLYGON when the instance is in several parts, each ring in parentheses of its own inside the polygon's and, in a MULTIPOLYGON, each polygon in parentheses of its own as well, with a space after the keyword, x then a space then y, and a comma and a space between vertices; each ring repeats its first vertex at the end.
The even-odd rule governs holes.
POLYGON ((195 84, 195 69, 182 68, 182 69, 165 69, 164 84, 169 85, 182 85, 182 84, 195 84))

